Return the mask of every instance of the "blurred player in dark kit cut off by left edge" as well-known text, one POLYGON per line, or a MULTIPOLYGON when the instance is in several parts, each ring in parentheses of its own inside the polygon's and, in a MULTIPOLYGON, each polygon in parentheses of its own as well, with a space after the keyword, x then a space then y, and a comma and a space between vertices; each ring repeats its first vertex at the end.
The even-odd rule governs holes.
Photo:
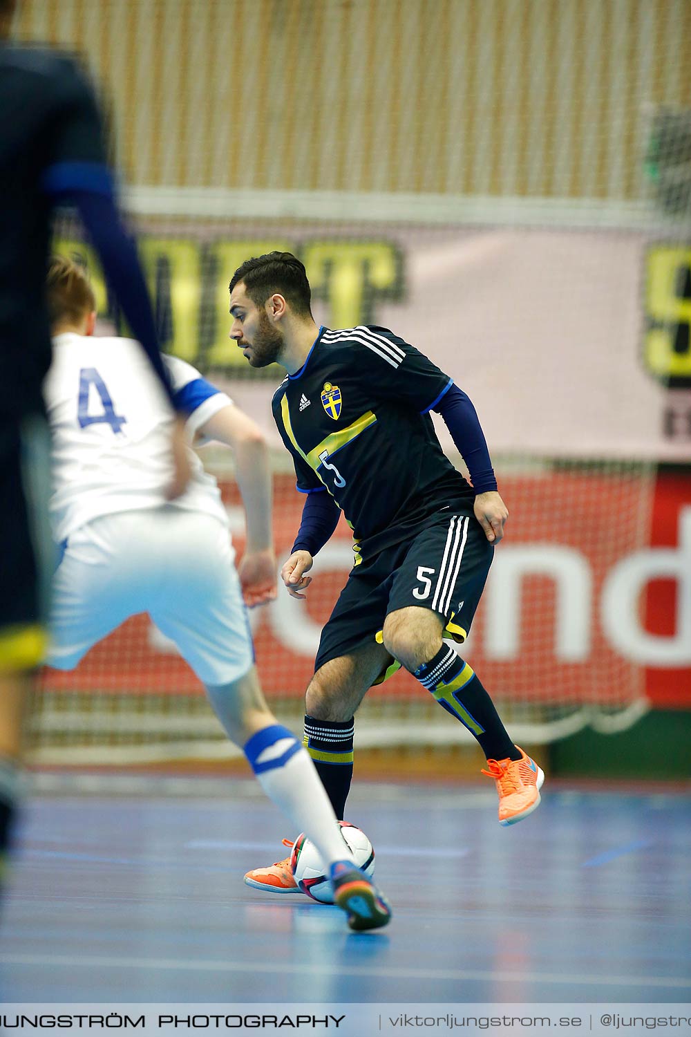
MULTIPOLYGON (((45 279, 53 209, 77 207, 106 277, 173 408, 133 240, 115 203, 102 118, 77 63, 8 41, 0 0, 0 889, 20 786, 24 718, 45 647, 50 451, 41 383, 51 361, 45 279)), ((168 494, 189 478, 171 422, 168 494)))

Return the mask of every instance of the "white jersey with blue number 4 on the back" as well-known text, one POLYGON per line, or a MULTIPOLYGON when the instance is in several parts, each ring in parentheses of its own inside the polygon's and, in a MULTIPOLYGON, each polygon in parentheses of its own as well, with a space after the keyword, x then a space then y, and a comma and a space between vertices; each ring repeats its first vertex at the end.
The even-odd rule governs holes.
MULTIPOLYGON (((166 356, 164 362, 192 438, 231 400, 184 361, 166 356)), ((44 397, 53 435, 51 520, 57 541, 93 518, 166 503, 173 414, 138 342, 58 335, 44 397)), ((215 479, 191 454, 189 488, 170 503, 227 526, 215 479)))

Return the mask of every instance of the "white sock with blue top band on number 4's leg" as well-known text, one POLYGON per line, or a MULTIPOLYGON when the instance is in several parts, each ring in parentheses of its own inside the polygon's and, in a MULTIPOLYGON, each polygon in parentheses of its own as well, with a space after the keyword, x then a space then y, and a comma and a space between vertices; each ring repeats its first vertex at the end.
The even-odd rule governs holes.
POLYGON ((257 731, 243 746, 257 781, 296 830, 304 832, 325 864, 351 861, 334 808, 307 750, 281 724, 257 731))

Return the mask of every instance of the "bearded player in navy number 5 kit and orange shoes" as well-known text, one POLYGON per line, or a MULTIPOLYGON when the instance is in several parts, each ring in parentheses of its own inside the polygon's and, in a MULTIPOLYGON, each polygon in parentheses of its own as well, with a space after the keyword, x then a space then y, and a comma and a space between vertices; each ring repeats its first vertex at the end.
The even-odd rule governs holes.
MULTIPOLYGON (((542 770, 507 733, 462 643, 503 535, 508 510, 474 408, 449 375, 385 328, 317 328, 301 262, 273 252, 230 282, 231 338, 253 367, 287 370, 273 418, 293 457, 303 521, 282 578, 304 597, 314 556, 341 511, 355 562, 324 626, 307 690, 305 740, 342 818, 352 778, 353 714, 367 690, 405 667, 480 742, 499 823, 540 803, 542 770), (443 454, 443 418, 472 485, 443 454)), ((246 881, 292 892, 285 861, 246 881)))

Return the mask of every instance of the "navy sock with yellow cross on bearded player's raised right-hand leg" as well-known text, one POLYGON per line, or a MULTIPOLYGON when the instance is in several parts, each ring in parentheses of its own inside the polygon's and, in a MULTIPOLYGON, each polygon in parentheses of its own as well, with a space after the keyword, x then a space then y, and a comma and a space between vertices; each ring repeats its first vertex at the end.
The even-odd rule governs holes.
POLYGON ((488 760, 521 758, 477 674, 448 644, 442 644, 434 658, 423 663, 413 676, 442 709, 467 727, 488 760))

